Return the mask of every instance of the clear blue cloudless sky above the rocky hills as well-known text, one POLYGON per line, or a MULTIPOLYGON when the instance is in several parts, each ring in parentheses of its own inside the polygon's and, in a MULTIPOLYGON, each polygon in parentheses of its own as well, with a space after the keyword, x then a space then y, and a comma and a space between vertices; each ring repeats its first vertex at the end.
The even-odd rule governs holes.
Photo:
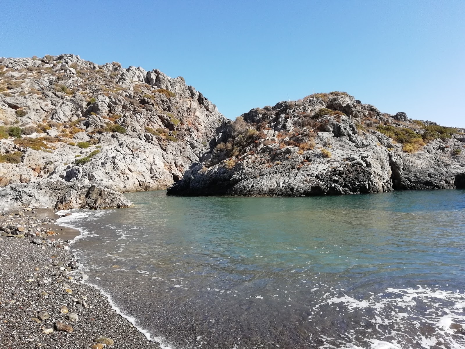
POLYGON ((0 56, 158 68, 231 119, 314 89, 465 127, 464 0, 3 0, 0 9, 0 56))

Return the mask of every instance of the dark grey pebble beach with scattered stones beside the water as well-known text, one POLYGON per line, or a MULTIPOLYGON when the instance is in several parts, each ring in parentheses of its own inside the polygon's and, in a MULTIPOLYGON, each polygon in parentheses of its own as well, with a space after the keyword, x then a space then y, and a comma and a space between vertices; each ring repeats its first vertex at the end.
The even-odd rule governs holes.
POLYGON ((53 210, 0 215, 0 347, 160 348, 112 307, 69 251, 53 210))

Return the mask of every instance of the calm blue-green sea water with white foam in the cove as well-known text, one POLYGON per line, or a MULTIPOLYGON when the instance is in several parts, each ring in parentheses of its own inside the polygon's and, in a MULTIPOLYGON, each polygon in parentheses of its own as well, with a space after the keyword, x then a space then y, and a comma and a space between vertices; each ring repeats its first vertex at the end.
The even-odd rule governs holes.
POLYGON ((60 218, 89 282, 178 348, 465 348, 465 191, 129 193, 60 218))

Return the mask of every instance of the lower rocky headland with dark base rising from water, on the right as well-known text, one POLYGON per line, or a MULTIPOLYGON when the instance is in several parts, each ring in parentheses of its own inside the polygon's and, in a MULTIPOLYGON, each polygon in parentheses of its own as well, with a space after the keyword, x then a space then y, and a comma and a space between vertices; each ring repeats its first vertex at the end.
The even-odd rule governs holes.
POLYGON ((329 195, 465 187, 463 129, 381 113, 343 92, 226 125, 168 195, 329 195))

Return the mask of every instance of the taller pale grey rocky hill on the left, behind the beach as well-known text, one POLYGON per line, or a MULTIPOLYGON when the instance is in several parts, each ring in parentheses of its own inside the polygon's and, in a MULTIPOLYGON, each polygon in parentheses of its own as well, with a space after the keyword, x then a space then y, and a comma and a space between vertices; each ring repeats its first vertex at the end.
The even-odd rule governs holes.
POLYGON ((73 54, 0 58, 0 207, 126 207, 166 188, 226 125, 182 77, 73 54))

